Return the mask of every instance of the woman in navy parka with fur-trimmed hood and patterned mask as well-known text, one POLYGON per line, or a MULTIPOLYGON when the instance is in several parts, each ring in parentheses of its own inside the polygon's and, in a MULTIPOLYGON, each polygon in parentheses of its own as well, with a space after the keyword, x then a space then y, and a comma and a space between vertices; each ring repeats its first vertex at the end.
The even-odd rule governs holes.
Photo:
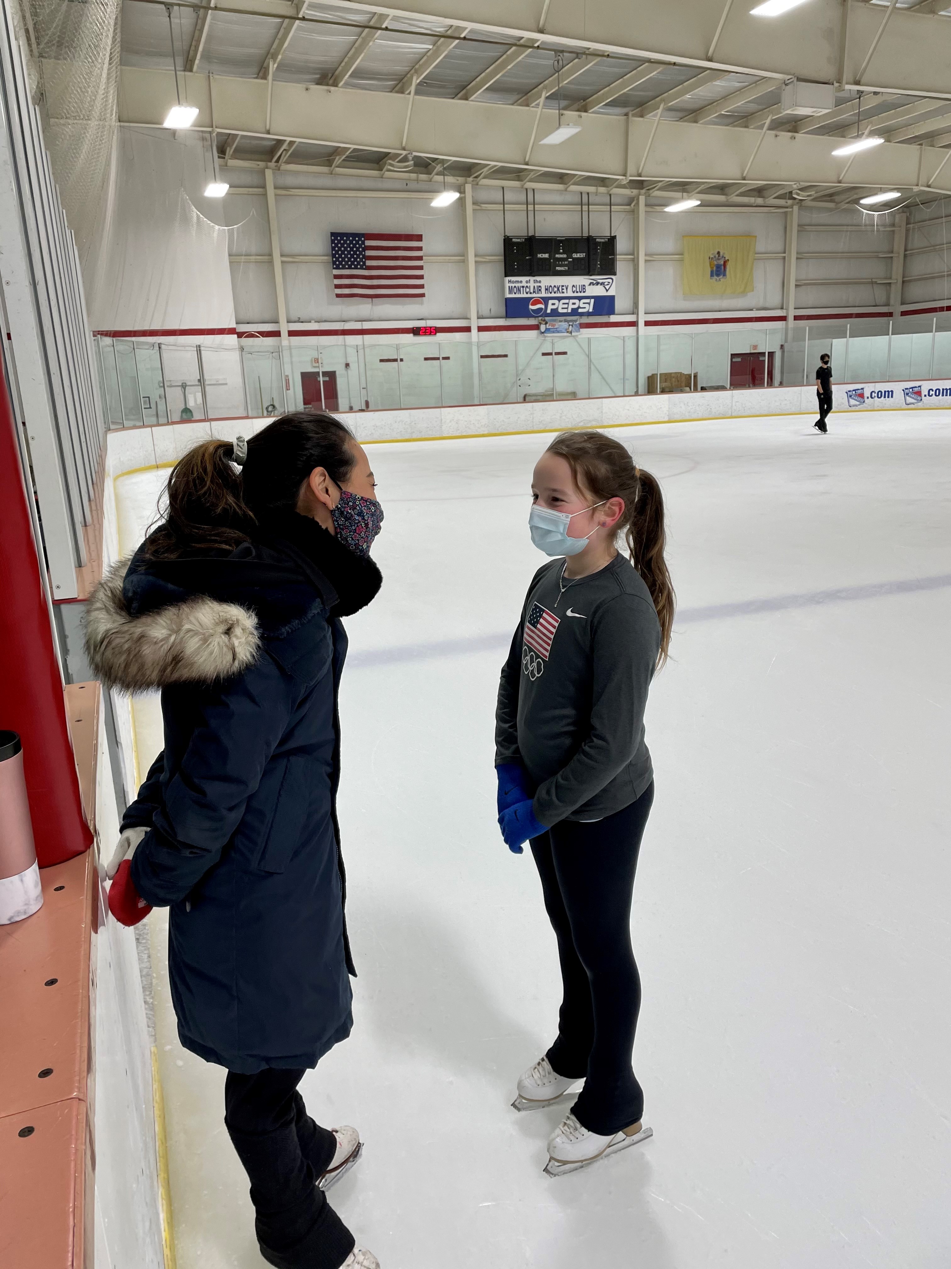
POLYGON ((297 1086, 353 1022, 340 618, 379 590, 382 518, 344 424, 285 415, 246 445, 190 450, 165 522, 90 603, 100 678, 160 688, 165 725, 107 869, 109 907, 129 925, 170 909, 179 1036, 228 1071, 224 1122, 279 1269, 377 1266, 323 1195, 359 1157, 359 1133, 318 1127, 297 1086))

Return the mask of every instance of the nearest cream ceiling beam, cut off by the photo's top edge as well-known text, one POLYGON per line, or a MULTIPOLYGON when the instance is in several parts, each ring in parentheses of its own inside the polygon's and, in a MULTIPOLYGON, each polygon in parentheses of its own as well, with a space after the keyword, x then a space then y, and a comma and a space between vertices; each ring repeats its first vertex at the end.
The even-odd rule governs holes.
MULTIPOLYGON (((230 0, 228 8, 294 18, 288 0, 230 0)), ((346 14, 354 22, 351 0, 323 0, 322 10, 346 14)), ((407 19, 463 25, 473 36, 496 39, 538 38, 539 0, 360 0, 359 11, 393 15, 392 27, 407 19)), ((812 0, 809 20, 792 9, 768 22, 751 18, 746 5, 734 5, 716 46, 718 60, 708 55, 721 16, 721 5, 710 0, 557 0, 547 10, 545 43, 566 52, 607 53, 631 61, 662 61, 719 67, 727 72, 857 86, 857 74, 881 25, 881 6, 864 0, 812 0), (839 65, 839 28, 848 14, 848 41, 839 65)), ((951 99, 947 67, 951 65, 951 23, 896 9, 872 58, 869 90, 933 95, 951 99)))

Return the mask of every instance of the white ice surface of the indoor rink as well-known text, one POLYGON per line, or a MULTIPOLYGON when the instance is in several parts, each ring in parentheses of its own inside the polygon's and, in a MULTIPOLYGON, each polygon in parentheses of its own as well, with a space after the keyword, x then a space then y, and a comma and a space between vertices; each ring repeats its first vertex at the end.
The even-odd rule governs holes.
MULTIPOLYGON (((331 1199, 383 1269, 951 1260, 951 414, 829 423, 612 433, 662 480, 680 602, 633 919, 654 1137, 557 1181, 558 1113, 510 1109, 553 1038, 555 945, 492 772, 545 438, 369 448, 385 584, 347 622, 341 702, 355 1028, 303 1091, 363 1132, 331 1199)), ((124 549, 164 476, 119 480, 124 549)), ((160 717, 136 709, 145 769, 160 717)), ((223 1072, 179 1048, 155 961, 179 1266, 256 1269, 223 1072)))

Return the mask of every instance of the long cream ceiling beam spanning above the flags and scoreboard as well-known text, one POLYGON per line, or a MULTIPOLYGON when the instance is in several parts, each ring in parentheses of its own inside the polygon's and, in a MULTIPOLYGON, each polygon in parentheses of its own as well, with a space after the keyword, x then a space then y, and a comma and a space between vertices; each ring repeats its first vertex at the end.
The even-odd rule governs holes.
MULTIPOLYGON (((51 74, 49 81, 53 79, 51 74)), ((582 175, 615 181, 629 180, 633 171, 640 171, 648 181, 844 188, 842 161, 832 156, 827 137, 563 112, 563 119, 581 124, 581 132, 562 145, 543 146, 538 141, 531 145, 538 110, 417 94, 407 118, 403 110, 382 109, 379 93, 281 80, 271 84, 269 128, 269 89, 260 80, 185 75, 183 93, 199 110, 197 129, 210 131, 214 126, 222 133, 270 137, 275 142, 407 151, 440 162, 459 162, 467 169, 493 162, 535 174, 548 171, 557 179, 582 175), (656 143, 648 152, 654 132, 656 143)), ((171 71, 120 69, 122 123, 160 127, 175 100, 171 71)), ((48 108, 55 119, 58 104, 67 109, 52 94, 48 108)), ((910 189, 927 188, 933 179, 936 192, 951 194, 951 166, 938 174, 942 157, 931 146, 886 141, 853 157, 848 185, 910 189)))

